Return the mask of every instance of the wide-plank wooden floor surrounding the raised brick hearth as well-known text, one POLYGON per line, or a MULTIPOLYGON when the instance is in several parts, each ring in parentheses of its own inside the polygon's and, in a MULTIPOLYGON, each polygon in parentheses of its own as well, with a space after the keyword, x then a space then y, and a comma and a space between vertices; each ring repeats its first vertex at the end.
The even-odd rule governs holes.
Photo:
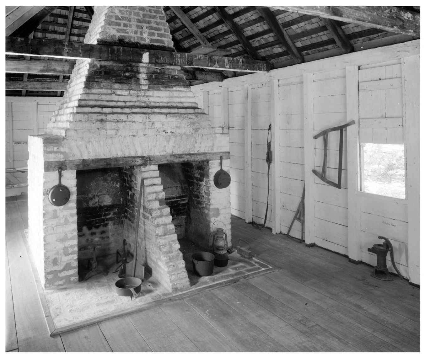
POLYGON ((239 218, 233 239, 279 270, 50 337, 27 227, 27 201, 6 199, 6 351, 419 351, 418 288, 239 218))

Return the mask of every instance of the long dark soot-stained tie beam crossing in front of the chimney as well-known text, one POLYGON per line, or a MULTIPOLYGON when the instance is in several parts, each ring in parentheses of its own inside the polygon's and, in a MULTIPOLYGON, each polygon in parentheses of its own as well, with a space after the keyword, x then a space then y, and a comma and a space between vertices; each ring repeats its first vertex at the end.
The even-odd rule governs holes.
POLYGON ((81 42, 64 44, 57 40, 6 37, 6 54, 40 57, 88 58, 138 63, 161 63, 183 68, 210 68, 224 71, 264 72, 273 67, 268 61, 235 57, 208 56, 81 42))

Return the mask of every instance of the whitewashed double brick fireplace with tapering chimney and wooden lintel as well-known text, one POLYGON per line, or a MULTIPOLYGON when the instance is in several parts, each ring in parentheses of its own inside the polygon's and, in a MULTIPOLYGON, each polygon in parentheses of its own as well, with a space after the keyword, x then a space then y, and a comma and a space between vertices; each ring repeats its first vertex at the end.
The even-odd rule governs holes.
MULTIPOLYGON (((95 7, 85 42, 173 51, 161 7, 95 7), (151 26, 150 37, 123 34, 126 23, 151 26)), ((45 134, 28 147, 28 243, 45 289, 88 278, 88 262, 125 240, 136 271, 143 265, 168 291, 184 290, 180 239, 211 249, 220 221, 231 245, 229 187, 213 182, 221 156, 229 168, 229 137, 215 133, 178 66, 77 60, 45 134), (55 206, 59 169, 70 198, 55 206)))

